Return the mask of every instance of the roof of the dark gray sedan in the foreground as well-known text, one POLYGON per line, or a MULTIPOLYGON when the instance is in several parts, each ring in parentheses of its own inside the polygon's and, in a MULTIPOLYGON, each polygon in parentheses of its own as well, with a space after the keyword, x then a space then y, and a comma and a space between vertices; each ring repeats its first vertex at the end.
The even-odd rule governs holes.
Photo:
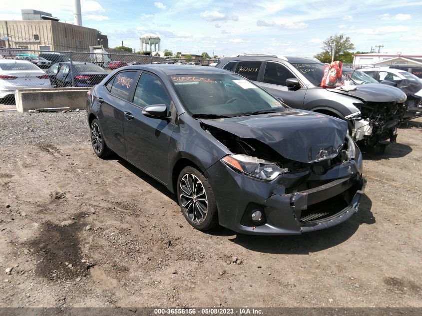
POLYGON ((140 70, 150 70, 150 71, 161 71, 165 75, 175 75, 175 74, 210 74, 210 73, 230 73, 233 74, 231 71, 214 68, 214 67, 206 67, 206 66, 191 66, 191 65, 175 65, 175 64, 147 64, 147 65, 132 65, 120 69, 140 69, 140 70))

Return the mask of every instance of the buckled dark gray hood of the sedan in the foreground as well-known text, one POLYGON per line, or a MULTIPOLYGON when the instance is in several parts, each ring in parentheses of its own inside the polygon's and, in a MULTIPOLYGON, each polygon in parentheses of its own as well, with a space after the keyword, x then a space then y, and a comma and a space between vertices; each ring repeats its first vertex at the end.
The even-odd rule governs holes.
POLYGON ((304 163, 337 156, 348 130, 347 123, 343 120, 295 109, 200 120, 240 138, 257 139, 283 157, 304 163))

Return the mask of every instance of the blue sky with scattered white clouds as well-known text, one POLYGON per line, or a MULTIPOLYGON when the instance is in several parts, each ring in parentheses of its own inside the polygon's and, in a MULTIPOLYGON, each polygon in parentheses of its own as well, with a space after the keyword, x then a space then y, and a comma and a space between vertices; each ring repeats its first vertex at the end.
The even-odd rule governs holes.
MULTIPOLYGON (((0 19, 21 19, 20 9, 73 21, 71 0, 17 0, 0 19)), ((232 55, 274 53, 312 56, 332 34, 350 36, 356 50, 382 44, 382 52, 422 54, 422 1, 343 0, 81 0, 83 26, 108 35, 109 46, 139 50, 139 36, 153 32, 161 49, 232 55)))

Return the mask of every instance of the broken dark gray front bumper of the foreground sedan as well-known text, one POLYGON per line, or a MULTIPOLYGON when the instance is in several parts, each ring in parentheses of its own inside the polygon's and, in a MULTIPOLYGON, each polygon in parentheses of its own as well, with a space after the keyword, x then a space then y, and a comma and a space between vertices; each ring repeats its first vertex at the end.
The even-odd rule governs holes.
POLYGON ((264 182, 217 162, 206 176, 214 189, 220 225, 253 235, 297 235, 340 224, 358 211, 366 185, 360 152, 357 161, 334 166, 324 175, 308 173, 307 180, 324 184, 298 192, 286 193, 285 188, 300 182, 303 173, 264 182), (264 225, 242 225, 251 205, 262 207, 264 225))

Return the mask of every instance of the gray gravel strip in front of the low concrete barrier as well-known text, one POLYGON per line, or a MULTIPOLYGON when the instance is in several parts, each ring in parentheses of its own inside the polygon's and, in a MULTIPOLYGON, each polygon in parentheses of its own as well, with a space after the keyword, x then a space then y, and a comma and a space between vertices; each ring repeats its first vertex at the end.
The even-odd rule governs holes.
POLYGON ((0 112, 0 146, 35 143, 65 144, 89 141, 86 111, 0 112), (16 128, 16 127, 19 128, 16 128))

